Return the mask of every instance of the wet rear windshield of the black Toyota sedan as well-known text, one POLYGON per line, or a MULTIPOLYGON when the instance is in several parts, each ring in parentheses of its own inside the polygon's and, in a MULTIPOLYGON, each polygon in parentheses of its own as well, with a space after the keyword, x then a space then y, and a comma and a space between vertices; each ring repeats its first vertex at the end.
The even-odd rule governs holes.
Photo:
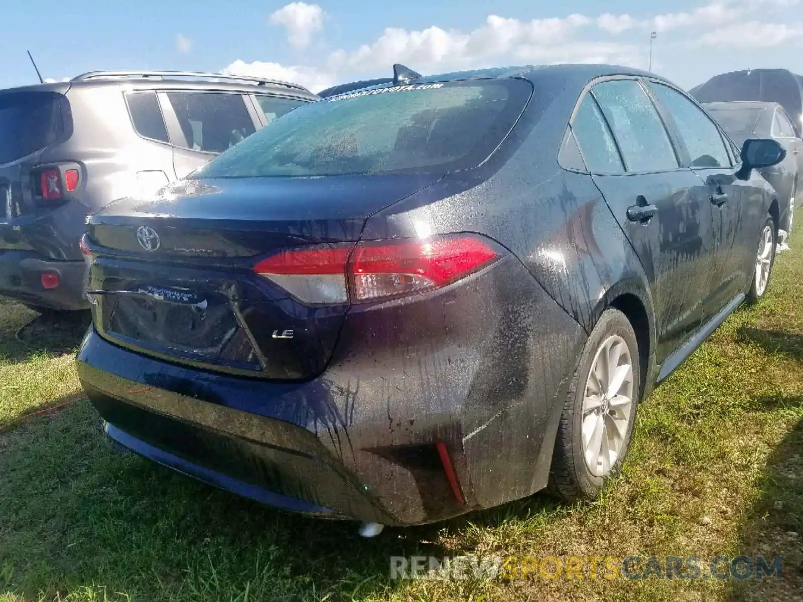
POLYGON ((507 136, 531 93, 521 79, 474 79, 333 96, 279 117, 198 177, 468 169, 507 136))

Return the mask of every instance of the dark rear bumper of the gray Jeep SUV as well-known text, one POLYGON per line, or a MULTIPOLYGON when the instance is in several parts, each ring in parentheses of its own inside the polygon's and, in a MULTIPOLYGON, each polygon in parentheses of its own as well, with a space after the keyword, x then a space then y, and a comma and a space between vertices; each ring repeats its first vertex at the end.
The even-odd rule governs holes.
POLYGON ((43 258, 35 251, 0 250, 0 295, 57 310, 87 309, 86 270, 83 260, 58 261, 43 258), (58 275, 58 286, 43 287, 43 274, 58 275))

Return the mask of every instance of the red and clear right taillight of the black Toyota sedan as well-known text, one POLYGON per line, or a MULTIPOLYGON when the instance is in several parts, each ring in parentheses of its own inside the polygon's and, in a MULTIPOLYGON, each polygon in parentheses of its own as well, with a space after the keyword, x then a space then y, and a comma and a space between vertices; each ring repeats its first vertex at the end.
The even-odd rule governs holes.
POLYGON ((306 303, 377 301, 445 287, 499 257, 475 236, 289 250, 254 270, 306 303))

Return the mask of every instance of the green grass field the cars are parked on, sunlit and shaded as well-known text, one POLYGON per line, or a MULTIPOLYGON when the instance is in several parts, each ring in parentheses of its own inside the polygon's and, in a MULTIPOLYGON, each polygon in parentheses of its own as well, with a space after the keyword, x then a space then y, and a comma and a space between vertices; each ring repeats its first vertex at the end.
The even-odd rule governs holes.
POLYGON ((625 470, 601 501, 536 495, 371 540, 121 452, 79 395, 71 349, 85 317, 63 323, 0 301, 0 602, 803 600, 803 230, 791 245, 766 299, 732 315, 642 405, 625 470), (781 580, 763 581, 389 578, 392 555, 460 554, 783 555, 784 565, 781 580))

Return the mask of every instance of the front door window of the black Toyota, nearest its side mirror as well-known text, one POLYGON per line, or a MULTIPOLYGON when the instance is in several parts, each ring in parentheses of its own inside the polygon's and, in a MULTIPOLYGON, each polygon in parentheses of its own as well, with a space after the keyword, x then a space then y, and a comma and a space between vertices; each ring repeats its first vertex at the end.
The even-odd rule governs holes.
POLYGON ((702 109, 673 87, 650 82, 650 89, 675 122, 678 134, 689 153, 691 167, 732 165, 719 128, 702 109))

